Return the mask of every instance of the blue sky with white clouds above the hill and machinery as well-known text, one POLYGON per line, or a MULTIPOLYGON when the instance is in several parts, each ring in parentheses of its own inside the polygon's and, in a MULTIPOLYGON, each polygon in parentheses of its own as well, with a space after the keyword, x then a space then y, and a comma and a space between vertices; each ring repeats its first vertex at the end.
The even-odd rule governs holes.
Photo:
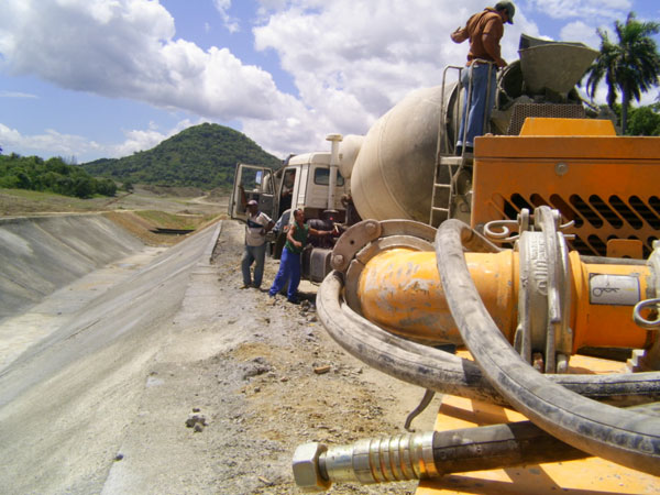
MULTIPOLYGON (((597 48, 596 29, 629 11, 660 20, 659 0, 515 3, 502 43, 509 62, 520 33, 597 48)), ((0 146, 84 163, 217 122, 280 157, 323 150, 327 134, 364 134, 406 94, 440 84, 468 51, 449 33, 488 4, 2 0, 0 146)))

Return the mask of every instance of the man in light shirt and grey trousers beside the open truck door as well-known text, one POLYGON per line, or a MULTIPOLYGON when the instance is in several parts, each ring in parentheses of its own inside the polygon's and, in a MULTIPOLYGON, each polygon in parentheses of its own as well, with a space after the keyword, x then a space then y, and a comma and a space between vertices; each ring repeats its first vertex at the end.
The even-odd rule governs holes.
POLYGON ((273 228, 273 220, 258 211, 258 204, 251 199, 248 201, 248 226, 245 226, 245 251, 241 260, 243 272, 243 287, 261 288, 264 276, 264 262, 266 257, 266 233, 273 228), (251 280, 250 267, 254 263, 254 278, 251 280))

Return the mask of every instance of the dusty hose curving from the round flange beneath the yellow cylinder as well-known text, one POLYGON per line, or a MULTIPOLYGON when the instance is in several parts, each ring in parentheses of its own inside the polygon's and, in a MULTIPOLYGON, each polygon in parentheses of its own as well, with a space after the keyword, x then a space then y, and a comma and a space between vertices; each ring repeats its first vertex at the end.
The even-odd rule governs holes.
MULTIPOLYGON (((441 394, 508 405, 472 361, 389 333, 343 300, 343 276, 332 272, 317 294, 317 314, 346 352, 395 378, 441 394)), ((547 375, 571 391, 620 406, 660 400, 660 374, 547 375)))

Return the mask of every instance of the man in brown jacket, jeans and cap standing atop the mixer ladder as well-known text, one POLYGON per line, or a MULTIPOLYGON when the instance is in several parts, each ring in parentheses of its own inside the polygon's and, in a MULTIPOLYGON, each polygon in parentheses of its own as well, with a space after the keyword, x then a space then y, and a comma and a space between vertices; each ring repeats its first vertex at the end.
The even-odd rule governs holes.
POLYGON ((462 155, 463 151, 466 153, 473 152, 474 138, 484 133, 484 121, 491 118, 491 110, 495 101, 497 68, 506 67, 506 62, 501 55, 499 40, 504 35, 504 23, 513 24, 515 13, 516 7, 513 2, 508 0, 499 1, 494 8, 488 7, 472 15, 465 28, 459 28, 451 33, 451 40, 454 43, 463 43, 465 40, 470 40, 468 68, 461 73, 464 103, 457 140, 458 155, 462 155), (494 65, 497 68, 493 67, 494 65), (488 75, 491 76, 490 79, 488 75), (468 107, 471 79, 472 90, 470 107, 468 107), (466 133, 465 117, 468 117, 466 133), (464 142, 463 138, 465 138, 464 142))

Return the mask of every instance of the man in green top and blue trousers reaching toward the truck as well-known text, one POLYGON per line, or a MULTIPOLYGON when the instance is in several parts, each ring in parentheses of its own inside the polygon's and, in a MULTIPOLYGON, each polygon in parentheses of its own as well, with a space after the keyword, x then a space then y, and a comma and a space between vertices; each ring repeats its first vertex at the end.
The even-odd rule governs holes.
POLYGON ((286 298, 289 302, 298 304, 298 285, 300 284, 300 253, 307 237, 311 235, 331 235, 331 230, 316 230, 305 224, 305 211, 301 208, 294 210, 294 224, 286 234, 286 244, 282 250, 282 258, 279 260, 279 270, 273 280, 268 295, 275 297, 279 290, 284 288, 288 282, 286 298))

